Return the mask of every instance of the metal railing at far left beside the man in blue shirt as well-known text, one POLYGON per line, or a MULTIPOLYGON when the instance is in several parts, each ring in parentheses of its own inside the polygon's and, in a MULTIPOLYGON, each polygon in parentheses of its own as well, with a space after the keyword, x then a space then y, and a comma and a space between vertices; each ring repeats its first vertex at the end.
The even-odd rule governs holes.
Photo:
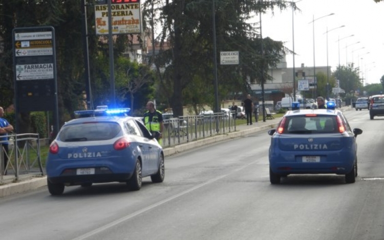
POLYGON ((14 175, 18 181, 20 175, 44 175, 40 159, 40 139, 37 133, 8 134, 0 136, 0 183, 5 179, 5 170, 8 175, 14 175), (3 144, 8 137, 8 154, 3 144), (8 156, 4 167, 4 156, 8 156))

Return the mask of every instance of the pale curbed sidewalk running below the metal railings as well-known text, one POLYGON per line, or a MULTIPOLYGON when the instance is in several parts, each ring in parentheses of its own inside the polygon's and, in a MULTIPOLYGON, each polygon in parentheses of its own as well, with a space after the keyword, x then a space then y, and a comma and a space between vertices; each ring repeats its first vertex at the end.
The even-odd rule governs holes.
MULTIPOLYGON (((340 110, 346 111, 346 110, 352 110, 352 108, 350 106, 345 106, 340 108, 340 110)), ((205 146, 210 143, 214 143, 218 141, 228 140, 231 138, 237 138, 237 137, 249 135, 255 132, 273 129, 273 128, 276 128, 276 125, 279 123, 280 119, 281 117, 276 117, 274 119, 266 119, 265 122, 259 121, 257 123, 253 123, 252 125, 246 125, 246 124, 238 125, 236 126, 235 132, 229 132, 223 135, 206 137, 196 141, 183 143, 174 147, 164 148, 163 150, 164 156, 165 157, 170 156, 176 153, 198 148, 198 147, 205 146)), ((12 175, 3 176, 3 179, 8 181, 4 181, 6 182, 6 184, 0 185, 0 198, 18 194, 18 193, 23 193, 23 192, 37 189, 39 187, 47 185, 47 176, 41 176, 41 175, 40 176, 33 175, 33 174, 28 175, 28 176, 25 176, 22 181, 16 182, 16 183, 13 182, 14 176, 12 175)))

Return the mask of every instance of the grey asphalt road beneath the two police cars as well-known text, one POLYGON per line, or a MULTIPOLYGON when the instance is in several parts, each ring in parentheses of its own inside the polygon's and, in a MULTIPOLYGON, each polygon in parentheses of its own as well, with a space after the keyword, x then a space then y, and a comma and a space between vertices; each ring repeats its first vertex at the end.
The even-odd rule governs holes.
POLYGON ((356 183, 292 175, 269 183, 266 131, 165 159, 161 184, 46 187, 0 199, 1 239, 384 239, 384 117, 346 111, 358 141, 356 183))

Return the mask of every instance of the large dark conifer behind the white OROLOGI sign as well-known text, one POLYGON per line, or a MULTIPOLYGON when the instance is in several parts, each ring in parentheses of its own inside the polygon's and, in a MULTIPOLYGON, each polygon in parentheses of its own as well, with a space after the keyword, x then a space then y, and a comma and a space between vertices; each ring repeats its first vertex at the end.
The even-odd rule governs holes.
MULTIPOLYGON (((218 67, 219 86, 230 83, 229 86, 242 86, 243 92, 246 92, 249 90, 248 79, 255 83, 271 80, 267 74, 268 68, 275 66, 287 50, 282 42, 265 38, 265 52, 261 54, 262 39, 258 34, 258 23, 249 20, 255 14, 269 9, 285 9, 291 5, 295 8, 293 2, 285 1, 241 0, 235 3, 224 0, 217 3, 217 59, 220 59, 220 51, 240 52, 240 65, 236 70, 231 68, 231 74, 218 67), (236 77, 232 79, 233 76, 236 77)), ((149 1, 144 4, 144 9, 152 9, 153 6, 149 1)), ((172 49, 161 51, 156 56, 155 64, 158 68, 164 67, 161 86, 167 87, 164 90, 169 94, 168 101, 174 113, 181 115, 185 104, 183 92, 192 81, 204 79, 206 86, 214 89, 212 1, 156 1, 155 12, 158 13, 155 25, 161 26, 157 41, 160 45, 165 41, 172 45, 172 49)), ((147 13, 144 15, 147 21, 154 16, 148 10, 144 13, 147 13)), ((221 90, 224 94, 230 91, 226 87, 221 90)))

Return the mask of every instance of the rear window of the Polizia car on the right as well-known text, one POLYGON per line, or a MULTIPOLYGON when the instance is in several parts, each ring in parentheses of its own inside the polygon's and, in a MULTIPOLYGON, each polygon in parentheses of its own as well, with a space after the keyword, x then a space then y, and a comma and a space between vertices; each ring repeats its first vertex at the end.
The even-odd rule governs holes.
POLYGON ((338 133, 337 118, 332 115, 287 116, 283 133, 338 133))

